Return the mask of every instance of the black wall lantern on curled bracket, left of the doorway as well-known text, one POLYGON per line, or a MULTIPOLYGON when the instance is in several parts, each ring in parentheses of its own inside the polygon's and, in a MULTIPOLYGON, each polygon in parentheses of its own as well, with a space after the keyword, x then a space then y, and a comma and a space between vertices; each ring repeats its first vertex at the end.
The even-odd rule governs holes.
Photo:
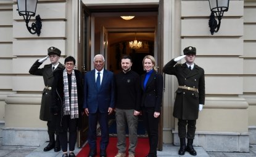
POLYGON ((36 16, 36 22, 32 23, 31 27, 28 26, 30 18, 35 17, 38 0, 17 0, 17 3, 19 15, 23 16, 28 31, 31 34, 38 34, 39 36, 42 28, 41 18, 39 15, 36 16))

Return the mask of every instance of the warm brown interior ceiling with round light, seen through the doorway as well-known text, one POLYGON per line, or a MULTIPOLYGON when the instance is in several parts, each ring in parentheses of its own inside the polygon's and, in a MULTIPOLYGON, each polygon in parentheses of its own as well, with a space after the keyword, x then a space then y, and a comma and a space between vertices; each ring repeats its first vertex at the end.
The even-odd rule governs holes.
POLYGON ((125 40, 154 41, 157 27, 157 12, 96 13, 95 32, 100 33, 102 26, 108 31, 108 42, 114 44, 125 40), (120 16, 135 16, 131 20, 123 20, 120 16))

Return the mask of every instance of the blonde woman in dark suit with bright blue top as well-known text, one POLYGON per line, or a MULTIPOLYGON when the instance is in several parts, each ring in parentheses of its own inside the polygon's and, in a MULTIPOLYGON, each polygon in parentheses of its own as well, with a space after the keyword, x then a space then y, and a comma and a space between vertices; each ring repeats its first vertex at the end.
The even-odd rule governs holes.
POLYGON ((163 76, 157 73, 155 58, 151 55, 142 61, 146 74, 141 75, 142 88, 142 115, 149 136, 149 157, 157 156, 157 143, 159 135, 159 116, 162 105, 163 76))

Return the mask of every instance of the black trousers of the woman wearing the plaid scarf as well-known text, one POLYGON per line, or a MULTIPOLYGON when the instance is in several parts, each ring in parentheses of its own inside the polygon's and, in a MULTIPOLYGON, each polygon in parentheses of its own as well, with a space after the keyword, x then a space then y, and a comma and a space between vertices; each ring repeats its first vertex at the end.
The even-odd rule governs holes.
POLYGON ((78 118, 70 119, 70 115, 65 115, 62 118, 63 131, 59 133, 60 146, 62 151, 67 151, 67 144, 69 143, 69 151, 75 150, 76 143, 76 129, 78 118), (67 131, 69 132, 69 139, 67 138, 67 131))

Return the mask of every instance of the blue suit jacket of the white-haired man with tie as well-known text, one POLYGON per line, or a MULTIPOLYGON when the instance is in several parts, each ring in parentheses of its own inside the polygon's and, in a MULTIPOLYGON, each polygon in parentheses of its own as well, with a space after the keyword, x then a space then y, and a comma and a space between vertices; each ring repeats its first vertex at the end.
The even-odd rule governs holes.
POLYGON ((88 108, 89 113, 107 113, 109 107, 115 106, 115 83, 113 72, 104 69, 101 88, 96 86, 95 69, 86 72, 84 79, 83 108, 88 108))

